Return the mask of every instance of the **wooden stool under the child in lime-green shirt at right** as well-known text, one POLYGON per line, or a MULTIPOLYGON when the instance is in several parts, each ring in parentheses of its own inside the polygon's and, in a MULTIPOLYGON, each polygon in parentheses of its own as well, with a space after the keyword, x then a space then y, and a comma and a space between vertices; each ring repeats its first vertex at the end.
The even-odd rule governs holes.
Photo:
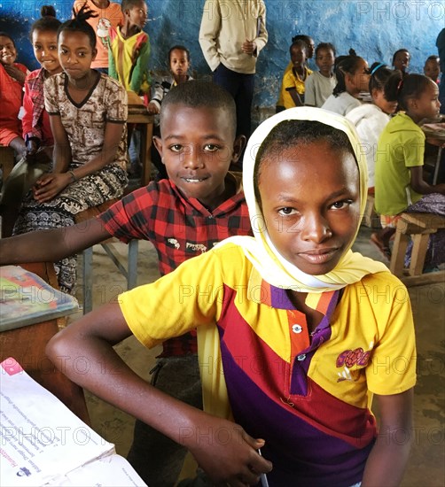
POLYGON ((389 270, 407 285, 441 282, 445 271, 423 274, 430 235, 445 228, 445 218, 431 213, 402 213, 395 228, 394 246, 389 270), (408 243, 412 238, 410 268, 404 268, 408 243))

